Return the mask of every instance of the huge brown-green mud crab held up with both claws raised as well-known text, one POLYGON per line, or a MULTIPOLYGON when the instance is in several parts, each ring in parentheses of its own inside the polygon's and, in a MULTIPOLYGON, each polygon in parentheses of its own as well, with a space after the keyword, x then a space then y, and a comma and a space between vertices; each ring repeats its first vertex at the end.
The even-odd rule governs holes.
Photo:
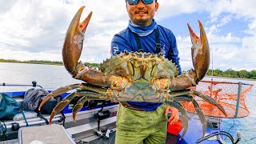
POLYGON ((187 24, 193 44, 192 61, 195 70, 189 70, 178 75, 178 67, 173 62, 163 58, 161 54, 127 52, 126 50, 102 62, 98 70, 92 70, 86 68, 81 61, 78 62, 82 53, 86 27, 92 15, 92 12, 90 12, 87 18, 80 22, 84 7, 82 6, 78 10, 70 22, 62 49, 62 58, 66 70, 73 78, 84 82, 63 86, 46 96, 40 104, 39 110, 50 98, 74 90, 73 93, 70 93, 54 107, 50 115, 50 123, 54 115, 63 110, 74 97, 82 97, 73 109, 74 122, 75 115, 88 100, 110 100, 121 104, 127 101, 166 103, 167 106, 174 106, 181 112, 184 127, 182 137, 188 129, 188 118, 186 110, 180 103, 181 101, 190 101, 194 104, 202 122, 202 138, 206 132, 206 118, 192 95, 217 106, 226 115, 226 111, 213 98, 189 89, 190 86, 196 86, 204 78, 210 65, 208 40, 200 21, 198 21, 200 38, 194 34, 190 25, 187 24))

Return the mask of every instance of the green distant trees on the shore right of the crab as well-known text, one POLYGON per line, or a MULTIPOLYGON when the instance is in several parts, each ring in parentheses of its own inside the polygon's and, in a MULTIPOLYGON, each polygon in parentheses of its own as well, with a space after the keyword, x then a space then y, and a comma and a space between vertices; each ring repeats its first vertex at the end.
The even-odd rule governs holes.
MULTIPOLYGON (((211 75, 212 70, 208 70, 207 75, 211 75)), ((235 71, 232 69, 228 69, 226 71, 222 71, 219 69, 213 70, 213 76, 220 76, 220 77, 229 77, 229 78, 250 78, 256 79, 256 70, 239 70, 235 71)))

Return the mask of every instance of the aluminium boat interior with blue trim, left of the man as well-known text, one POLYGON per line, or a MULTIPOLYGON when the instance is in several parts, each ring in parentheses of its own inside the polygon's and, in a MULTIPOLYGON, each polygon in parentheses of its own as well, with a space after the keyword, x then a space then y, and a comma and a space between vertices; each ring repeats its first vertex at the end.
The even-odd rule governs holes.
MULTIPOLYGON (((34 82, 33 82, 34 83, 34 82)), ((4 86, 30 86, 30 85, 7 85, 4 86)), ((30 86, 42 88, 42 86, 33 84, 30 86)), ((50 92, 50 90, 48 90, 50 92)), ((26 91, 10 91, 2 92, 2 94, 8 94, 14 98, 18 103, 21 103, 26 91)), ((65 98, 70 92, 61 94, 61 98, 65 98)), ((62 125, 65 128, 66 133, 76 143, 89 142, 97 138, 109 138, 110 132, 115 131, 116 113, 118 110, 118 103, 110 101, 91 101, 87 102, 86 106, 80 110, 76 116, 76 122, 72 118, 72 107, 75 102, 70 102, 69 106, 66 106, 62 110, 62 114, 57 114, 52 120, 52 125, 62 125)), ((36 113, 37 114, 37 113, 36 113)), ((30 114, 31 115, 31 114, 30 114)), ((33 116, 34 117, 34 116, 33 116)), ((43 118, 38 115, 34 118, 27 118, 26 121, 22 120, 6 120, 0 121, 2 126, 6 126, 5 134, 1 134, 0 131, 0 144, 9 143, 17 144, 21 141, 21 129, 25 130, 26 127, 46 126, 49 123, 50 114, 42 114, 43 118), (27 123, 26 123, 27 122, 27 123)), ((37 127, 38 129, 38 127, 37 127)), ((62 135, 63 136, 63 135, 62 135)), ((65 136, 65 135, 64 135, 65 136)))

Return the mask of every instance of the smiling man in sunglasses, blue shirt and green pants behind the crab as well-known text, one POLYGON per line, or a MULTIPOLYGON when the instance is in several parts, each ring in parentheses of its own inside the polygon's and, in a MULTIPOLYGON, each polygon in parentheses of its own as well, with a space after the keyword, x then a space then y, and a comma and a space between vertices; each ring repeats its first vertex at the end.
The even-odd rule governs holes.
MULTIPOLYGON (((174 34, 154 21, 158 6, 157 0, 126 0, 129 25, 114 35, 111 54, 125 50, 160 53, 172 60, 181 74, 174 34)), ((178 110, 174 107, 153 102, 122 102, 118 108, 115 143, 165 143, 169 111, 170 124, 177 122, 178 110)))

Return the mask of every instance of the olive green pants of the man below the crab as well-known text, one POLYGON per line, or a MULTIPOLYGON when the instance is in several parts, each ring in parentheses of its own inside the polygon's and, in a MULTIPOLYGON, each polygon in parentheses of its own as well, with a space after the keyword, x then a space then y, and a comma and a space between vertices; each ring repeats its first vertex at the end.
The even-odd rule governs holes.
POLYGON ((166 143, 166 105, 153 111, 130 110, 119 104, 115 144, 166 143))

